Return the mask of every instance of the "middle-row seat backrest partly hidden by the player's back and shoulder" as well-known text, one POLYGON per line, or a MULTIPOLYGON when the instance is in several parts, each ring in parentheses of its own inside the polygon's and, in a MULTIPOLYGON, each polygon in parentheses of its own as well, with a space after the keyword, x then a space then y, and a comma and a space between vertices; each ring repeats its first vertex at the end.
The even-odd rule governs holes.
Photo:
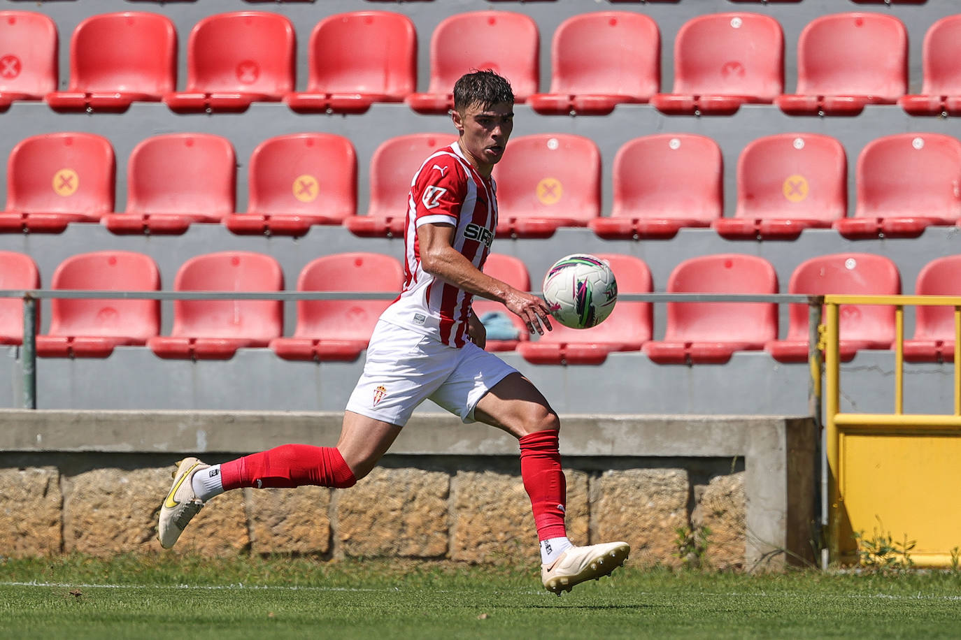
POLYGON ((417 169, 430 154, 455 140, 452 133, 409 133, 382 142, 370 160, 367 215, 403 218, 417 169))

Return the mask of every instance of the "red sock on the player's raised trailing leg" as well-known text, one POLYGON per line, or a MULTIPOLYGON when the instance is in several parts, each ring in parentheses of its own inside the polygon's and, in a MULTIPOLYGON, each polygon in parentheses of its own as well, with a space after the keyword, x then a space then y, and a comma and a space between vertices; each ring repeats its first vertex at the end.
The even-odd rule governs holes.
POLYGON ((241 486, 335 486, 357 484, 354 472, 336 447, 283 444, 220 465, 224 490, 241 486))

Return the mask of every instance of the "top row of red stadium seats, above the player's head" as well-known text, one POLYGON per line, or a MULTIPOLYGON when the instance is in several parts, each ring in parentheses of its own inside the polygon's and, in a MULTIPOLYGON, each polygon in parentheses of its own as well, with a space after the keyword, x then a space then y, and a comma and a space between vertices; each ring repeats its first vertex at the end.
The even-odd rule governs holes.
POLYGON ((296 36, 280 13, 230 12, 202 18, 187 42, 187 79, 176 89, 177 34, 148 12, 92 15, 74 31, 70 82, 57 90, 57 29, 36 12, 0 12, 0 107, 45 100, 62 110, 124 110, 162 101, 178 112, 237 111, 283 101, 301 112, 359 113, 406 102, 445 113, 452 87, 471 68, 492 68, 519 102, 545 114, 605 114, 650 103, 668 114, 735 112, 776 104, 795 115, 851 115, 867 104, 899 104, 912 115, 961 113, 961 14, 924 36, 922 92, 906 95, 908 34, 895 16, 842 12, 808 23, 798 41, 798 86, 784 92, 784 36, 771 16, 699 15, 678 31, 674 88, 659 93, 660 34, 637 12, 585 12, 552 40, 552 81, 538 92, 539 33, 528 15, 463 12, 431 34, 431 78, 417 92, 417 34, 396 12, 323 18, 308 43, 308 83, 295 90, 296 36))

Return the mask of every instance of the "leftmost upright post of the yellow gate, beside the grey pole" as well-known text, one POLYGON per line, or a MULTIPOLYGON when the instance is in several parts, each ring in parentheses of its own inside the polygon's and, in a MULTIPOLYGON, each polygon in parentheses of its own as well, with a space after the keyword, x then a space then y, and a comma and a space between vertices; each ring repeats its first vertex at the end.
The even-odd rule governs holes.
POLYGON ((826 440, 827 440, 827 561, 839 558, 841 531, 841 492, 838 485, 838 431, 834 416, 840 405, 841 367, 838 358, 838 305, 825 297, 825 399, 826 440))

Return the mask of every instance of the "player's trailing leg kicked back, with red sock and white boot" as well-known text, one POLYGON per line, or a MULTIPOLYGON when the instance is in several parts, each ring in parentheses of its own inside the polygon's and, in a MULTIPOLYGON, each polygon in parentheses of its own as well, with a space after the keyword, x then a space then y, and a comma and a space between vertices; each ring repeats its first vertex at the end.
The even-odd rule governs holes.
POLYGON ((187 523, 212 497, 242 486, 354 486, 381 460, 401 427, 354 412, 344 412, 336 447, 282 446, 223 464, 196 458, 178 462, 174 482, 160 505, 160 546, 174 546, 187 523))

